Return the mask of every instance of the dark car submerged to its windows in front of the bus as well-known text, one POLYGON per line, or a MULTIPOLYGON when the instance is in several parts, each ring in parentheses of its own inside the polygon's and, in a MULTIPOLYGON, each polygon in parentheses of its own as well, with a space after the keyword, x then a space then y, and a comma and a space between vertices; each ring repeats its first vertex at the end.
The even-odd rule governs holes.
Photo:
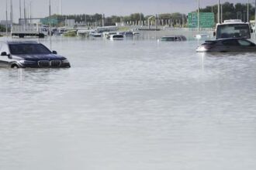
POLYGON ((241 38, 207 40, 196 52, 256 52, 256 45, 241 38))

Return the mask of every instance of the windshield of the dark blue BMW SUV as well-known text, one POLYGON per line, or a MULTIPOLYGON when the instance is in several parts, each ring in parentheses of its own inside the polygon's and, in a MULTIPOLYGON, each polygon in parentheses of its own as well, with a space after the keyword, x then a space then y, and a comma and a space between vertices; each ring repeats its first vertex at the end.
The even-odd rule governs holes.
POLYGON ((12 54, 50 54, 50 50, 42 44, 10 44, 12 54))

